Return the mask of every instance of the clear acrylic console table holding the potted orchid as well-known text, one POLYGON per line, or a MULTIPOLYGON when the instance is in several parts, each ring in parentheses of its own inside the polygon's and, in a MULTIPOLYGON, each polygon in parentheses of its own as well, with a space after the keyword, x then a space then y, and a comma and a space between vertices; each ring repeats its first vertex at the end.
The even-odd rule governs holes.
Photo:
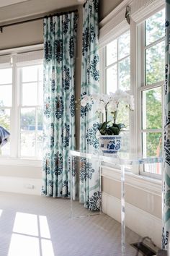
MULTIPOLYGON (((139 166, 142 164, 153 164, 153 163, 163 163, 164 158, 162 157, 151 157, 151 158, 138 158, 136 155, 129 153, 117 153, 112 156, 91 154, 91 153, 81 153, 76 150, 70 151, 71 155, 71 173, 73 169, 73 158, 83 157, 99 162, 99 175, 102 171, 102 162, 120 166, 121 171, 121 244, 122 244, 122 256, 125 256, 125 167, 126 166, 139 166)), ((99 177, 100 178, 100 177, 99 177)), ((72 189, 71 189, 72 190, 72 189)), ((72 200, 71 192, 71 200, 72 200)))

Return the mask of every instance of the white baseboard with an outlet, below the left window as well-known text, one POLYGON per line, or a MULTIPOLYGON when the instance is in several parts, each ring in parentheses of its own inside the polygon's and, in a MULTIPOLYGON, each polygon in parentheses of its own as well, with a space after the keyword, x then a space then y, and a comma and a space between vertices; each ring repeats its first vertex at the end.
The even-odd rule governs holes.
POLYGON ((27 179, 12 176, 0 176, 0 191, 28 195, 41 194, 41 179, 27 179))

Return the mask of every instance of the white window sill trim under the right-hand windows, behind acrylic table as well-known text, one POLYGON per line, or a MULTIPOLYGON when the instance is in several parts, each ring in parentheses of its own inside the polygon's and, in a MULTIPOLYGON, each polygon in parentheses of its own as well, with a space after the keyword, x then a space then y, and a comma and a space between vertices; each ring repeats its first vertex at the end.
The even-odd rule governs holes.
MULTIPOLYGON (((111 168, 108 166, 102 166, 102 176, 106 177, 107 179, 114 179, 117 182, 120 182, 121 180, 120 169, 111 168)), ((126 171, 125 184, 161 197, 161 180, 126 171)))

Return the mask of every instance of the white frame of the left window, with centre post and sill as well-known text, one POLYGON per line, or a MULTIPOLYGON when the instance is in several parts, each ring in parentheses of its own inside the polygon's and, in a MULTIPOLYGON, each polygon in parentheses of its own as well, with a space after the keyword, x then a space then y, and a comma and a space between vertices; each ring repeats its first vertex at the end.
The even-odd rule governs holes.
MULTIPOLYGON (((16 165, 16 166, 41 166, 42 160, 40 158, 24 158, 19 155, 19 143, 20 143, 20 118, 19 118, 19 111, 20 111, 20 84, 19 84, 19 67, 26 67, 26 66, 33 66, 36 64, 42 64, 43 59, 39 56, 42 55, 43 45, 36 45, 36 46, 25 46, 22 48, 14 48, 8 49, 4 51, 0 51, 0 63, 1 58, 5 55, 11 56, 11 63, 4 66, 0 64, 1 67, 12 67, 12 108, 11 108, 11 115, 10 115, 10 154, 9 156, 1 155, 0 156, 0 165, 4 163, 8 163, 9 165, 16 165), (37 53, 37 59, 30 59, 29 54, 37 53), (20 55, 19 55, 20 54, 20 55), (23 59, 23 56, 24 59, 23 59), (19 59, 20 58, 20 59, 19 59), (11 66, 10 66, 11 65, 11 66), (17 119, 17 121, 16 121, 17 119)), ((34 58, 34 57, 33 57, 34 58)))

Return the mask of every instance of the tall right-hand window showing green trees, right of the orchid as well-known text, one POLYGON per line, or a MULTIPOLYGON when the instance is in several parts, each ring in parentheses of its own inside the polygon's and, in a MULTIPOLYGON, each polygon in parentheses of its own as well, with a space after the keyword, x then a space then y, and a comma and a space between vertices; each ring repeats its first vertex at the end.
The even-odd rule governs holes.
MULTIPOLYGON (((162 155, 162 90, 164 85, 164 9, 139 26, 140 31, 140 148, 144 158, 162 155)), ((161 174, 161 164, 146 165, 145 174, 161 174)))

